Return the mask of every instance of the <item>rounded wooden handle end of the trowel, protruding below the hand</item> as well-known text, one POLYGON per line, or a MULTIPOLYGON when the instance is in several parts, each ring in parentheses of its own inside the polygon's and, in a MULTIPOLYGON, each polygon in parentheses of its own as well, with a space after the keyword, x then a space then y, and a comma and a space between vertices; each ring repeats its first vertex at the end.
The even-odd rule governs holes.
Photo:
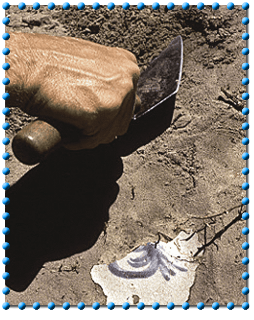
POLYGON ((56 128, 46 121, 35 120, 16 134, 12 150, 20 162, 34 165, 60 147, 61 141, 61 134, 56 128))

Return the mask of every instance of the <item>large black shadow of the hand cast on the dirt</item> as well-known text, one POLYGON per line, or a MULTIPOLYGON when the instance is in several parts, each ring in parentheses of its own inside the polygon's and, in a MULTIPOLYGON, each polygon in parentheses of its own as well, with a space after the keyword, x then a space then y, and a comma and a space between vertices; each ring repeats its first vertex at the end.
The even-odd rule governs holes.
POLYGON ((109 145, 60 150, 6 191, 11 218, 6 285, 24 291, 47 261, 88 250, 100 236, 122 175, 109 145))

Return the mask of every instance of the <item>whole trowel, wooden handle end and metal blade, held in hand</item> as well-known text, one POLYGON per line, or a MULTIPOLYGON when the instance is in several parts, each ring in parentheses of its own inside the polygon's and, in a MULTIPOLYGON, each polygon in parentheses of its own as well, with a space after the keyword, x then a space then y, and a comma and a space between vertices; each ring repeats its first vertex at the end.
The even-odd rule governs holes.
MULTIPOLYGON (((152 114, 155 108, 159 108, 178 92, 182 65, 183 41, 179 35, 141 73, 136 92, 141 104, 134 111, 130 127, 142 117, 152 114)), ((34 165, 60 147, 65 135, 74 138, 77 134, 77 129, 66 123, 53 119, 38 119, 29 123, 13 138, 13 153, 22 163, 34 165)))

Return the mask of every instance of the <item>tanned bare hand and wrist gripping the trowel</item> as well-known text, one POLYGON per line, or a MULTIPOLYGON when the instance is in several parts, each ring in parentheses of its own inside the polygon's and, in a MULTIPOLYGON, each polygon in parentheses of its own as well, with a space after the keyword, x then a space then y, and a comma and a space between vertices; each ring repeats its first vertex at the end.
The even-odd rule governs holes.
POLYGON ((8 104, 79 129, 70 150, 92 149, 126 133, 140 103, 140 76, 131 52, 83 39, 9 32, 8 104))

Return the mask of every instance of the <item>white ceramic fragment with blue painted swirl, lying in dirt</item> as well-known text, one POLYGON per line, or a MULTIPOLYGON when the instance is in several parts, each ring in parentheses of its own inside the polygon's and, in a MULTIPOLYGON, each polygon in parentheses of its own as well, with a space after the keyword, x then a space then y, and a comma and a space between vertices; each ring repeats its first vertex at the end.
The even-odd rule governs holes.
MULTIPOLYGON (((109 265, 94 265, 91 276, 107 296, 107 304, 182 305, 189 297, 198 263, 193 254, 201 244, 195 234, 189 240, 181 232, 170 242, 139 246, 109 265)), ((201 253, 202 254, 202 253, 201 253)))

